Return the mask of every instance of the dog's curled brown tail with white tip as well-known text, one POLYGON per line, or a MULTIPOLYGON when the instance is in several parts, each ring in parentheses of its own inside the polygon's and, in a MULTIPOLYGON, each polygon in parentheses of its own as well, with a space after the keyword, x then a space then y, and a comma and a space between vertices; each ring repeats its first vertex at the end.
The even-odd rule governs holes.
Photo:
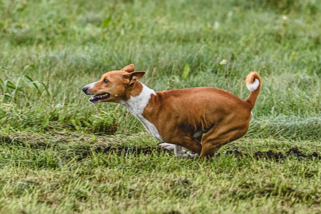
POLYGON ((246 77, 246 87, 250 90, 250 94, 246 99, 246 102, 249 104, 250 109, 252 110, 256 101, 256 98, 261 90, 261 78, 256 72, 251 72, 246 77))

